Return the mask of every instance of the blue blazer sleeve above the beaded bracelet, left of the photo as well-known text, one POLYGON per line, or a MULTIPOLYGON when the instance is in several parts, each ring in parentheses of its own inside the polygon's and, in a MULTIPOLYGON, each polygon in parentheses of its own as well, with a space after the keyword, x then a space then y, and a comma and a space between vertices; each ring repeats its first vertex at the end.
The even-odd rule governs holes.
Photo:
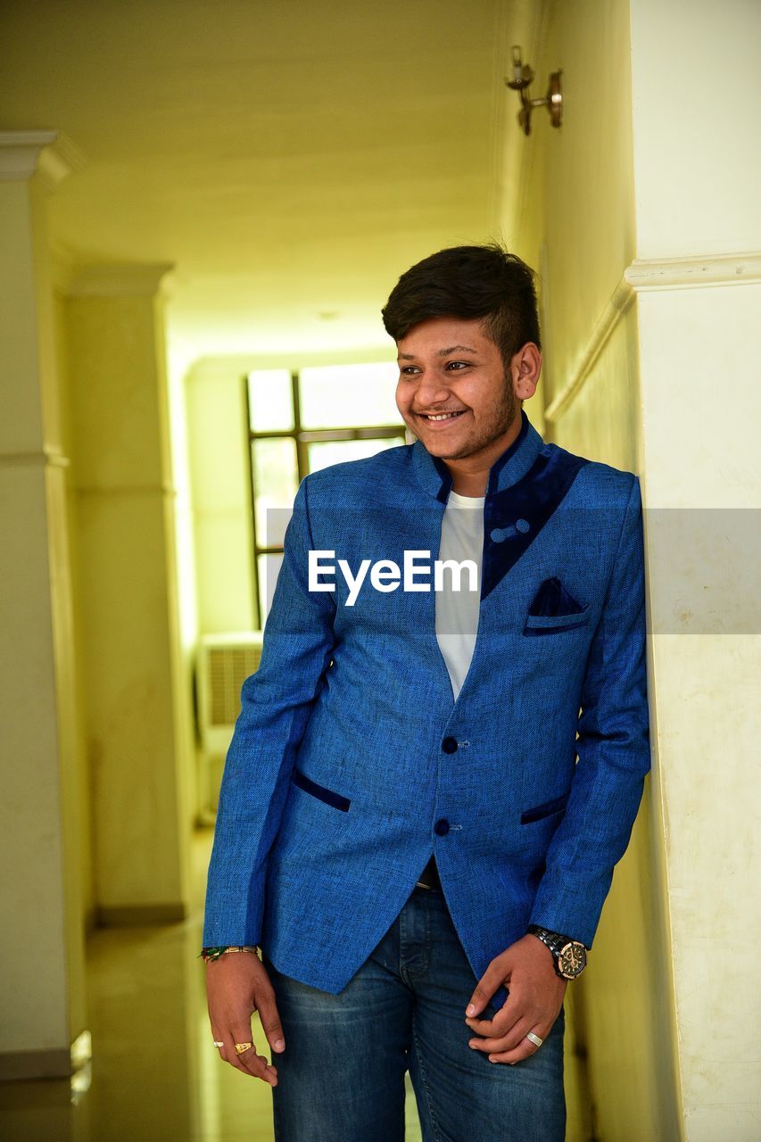
POLYGON ((258 944, 270 847, 335 643, 335 602, 309 592, 306 476, 294 500, 257 671, 243 682, 209 862, 203 947, 258 944))

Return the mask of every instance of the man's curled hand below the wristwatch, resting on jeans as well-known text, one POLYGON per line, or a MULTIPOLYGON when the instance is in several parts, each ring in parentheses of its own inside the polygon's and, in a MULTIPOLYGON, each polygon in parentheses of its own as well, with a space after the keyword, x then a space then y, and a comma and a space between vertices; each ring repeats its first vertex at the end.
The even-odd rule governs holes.
POLYGON ((475 984, 465 1022, 475 1038, 470 1046, 488 1054, 490 1062, 519 1063, 540 1051, 526 1036, 546 1039, 560 1014, 568 981, 555 972, 552 952, 535 935, 524 935, 491 960, 475 984), (500 983, 510 995, 494 1019, 479 1019, 500 983), (479 1038, 478 1036, 482 1036, 479 1038))

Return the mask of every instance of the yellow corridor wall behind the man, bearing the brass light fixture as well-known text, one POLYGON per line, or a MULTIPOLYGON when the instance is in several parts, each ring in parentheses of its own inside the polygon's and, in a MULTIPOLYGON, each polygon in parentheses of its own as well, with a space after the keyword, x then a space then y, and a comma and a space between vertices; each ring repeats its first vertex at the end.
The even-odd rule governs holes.
MULTIPOLYGON (((527 30, 530 34, 531 29, 527 30)), ((536 91, 563 70, 564 121, 534 114, 514 128, 506 166, 519 167, 502 231, 542 275, 545 437, 642 474, 638 324, 622 282, 635 254, 630 5, 548 2, 534 24, 536 91), (536 43, 539 54, 536 54, 536 43)), ((523 45, 524 55, 531 50, 523 45)), ((518 110, 518 96, 511 93, 518 110)), ((651 669, 651 664, 650 664, 651 669)), ((651 684, 651 702, 654 700, 651 684)), ((680 1136, 671 1048, 671 963, 654 780, 614 886, 586 976, 571 986, 569 1142, 680 1136), (588 1089, 574 1048, 587 1054, 588 1089)))

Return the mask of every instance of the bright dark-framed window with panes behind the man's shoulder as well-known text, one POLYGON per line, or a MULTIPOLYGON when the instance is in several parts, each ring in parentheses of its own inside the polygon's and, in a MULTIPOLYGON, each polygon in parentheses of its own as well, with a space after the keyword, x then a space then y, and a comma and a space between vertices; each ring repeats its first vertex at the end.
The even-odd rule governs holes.
POLYGON ((282 563, 286 522, 304 476, 404 443, 394 401, 398 378, 392 362, 297 372, 257 369, 246 378, 258 627, 264 626, 282 563))

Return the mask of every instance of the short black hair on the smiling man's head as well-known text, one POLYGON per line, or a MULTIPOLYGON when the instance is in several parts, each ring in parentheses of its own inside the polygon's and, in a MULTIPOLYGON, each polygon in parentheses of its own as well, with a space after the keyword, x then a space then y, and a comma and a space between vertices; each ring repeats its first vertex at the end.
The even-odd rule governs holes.
POLYGON ((395 341, 430 317, 480 317, 505 370, 527 341, 542 348, 535 273, 498 242, 452 246, 416 263, 380 312, 395 341))

